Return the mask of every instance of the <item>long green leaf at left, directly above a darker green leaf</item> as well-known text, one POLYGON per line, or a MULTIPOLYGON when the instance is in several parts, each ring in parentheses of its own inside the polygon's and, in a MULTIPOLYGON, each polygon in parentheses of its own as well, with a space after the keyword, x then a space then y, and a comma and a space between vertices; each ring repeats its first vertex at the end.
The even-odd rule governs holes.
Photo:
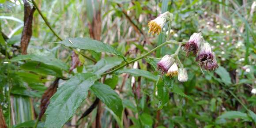
POLYGON ((57 68, 63 69, 65 71, 68 71, 69 67, 67 64, 63 63, 61 60, 53 57, 53 56, 42 56, 42 55, 36 55, 36 54, 29 54, 29 55, 20 55, 15 58, 12 58, 11 61, 19 61, 19 60, 32 60, 32 61, 38 61, 47 65, 52 65, 57 68))

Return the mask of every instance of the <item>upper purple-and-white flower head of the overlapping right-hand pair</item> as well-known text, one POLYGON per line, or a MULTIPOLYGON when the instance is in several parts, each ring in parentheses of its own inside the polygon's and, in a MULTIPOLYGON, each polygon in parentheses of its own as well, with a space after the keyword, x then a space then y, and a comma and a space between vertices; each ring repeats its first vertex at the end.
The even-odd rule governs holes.
POLYGON ((194 33, 190 36, 188 42, 186 43, 184 49, 188 53, 192 52, 196 55, 198 49, 200 48, 200 44, 204 42, 202 33, 194 33))

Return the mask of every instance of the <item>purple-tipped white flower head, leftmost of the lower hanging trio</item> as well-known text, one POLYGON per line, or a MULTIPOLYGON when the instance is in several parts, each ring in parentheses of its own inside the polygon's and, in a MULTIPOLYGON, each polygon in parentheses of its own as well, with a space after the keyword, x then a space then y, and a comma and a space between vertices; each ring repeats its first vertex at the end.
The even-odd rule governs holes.
POLYGON ((163 72, 167 72, 174 62, 175 62, 175 59, 172 56, 165 55, 158 62, 157 67, 158 69, 161 69, 163 72))

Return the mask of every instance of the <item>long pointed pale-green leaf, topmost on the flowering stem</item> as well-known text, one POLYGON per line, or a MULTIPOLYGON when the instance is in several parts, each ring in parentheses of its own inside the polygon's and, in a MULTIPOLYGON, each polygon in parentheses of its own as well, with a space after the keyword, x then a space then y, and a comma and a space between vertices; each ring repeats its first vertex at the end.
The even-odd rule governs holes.
POLYGON ((118 52, 111 45, 105 44, 101 41, 93 40, 91 38, 69 38, 64 41, 55 42, 55 43, 59 43, 68 47, 73 47, 73 48, 93 50, 94 52, 97 52, 97 53, 107 52, 107 53, 116 54, 117 56, 122 56, 121 53, 118 52))

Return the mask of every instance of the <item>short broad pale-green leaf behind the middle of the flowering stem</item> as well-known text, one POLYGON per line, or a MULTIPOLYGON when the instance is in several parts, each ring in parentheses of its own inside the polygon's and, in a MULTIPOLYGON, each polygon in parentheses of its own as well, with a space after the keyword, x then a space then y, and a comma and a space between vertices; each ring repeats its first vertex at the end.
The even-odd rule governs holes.
POLYGON ((97 62, 93 67, 93 72, 97 75, 121 64, 123 59, 119 57, 105 57, 97 62))

